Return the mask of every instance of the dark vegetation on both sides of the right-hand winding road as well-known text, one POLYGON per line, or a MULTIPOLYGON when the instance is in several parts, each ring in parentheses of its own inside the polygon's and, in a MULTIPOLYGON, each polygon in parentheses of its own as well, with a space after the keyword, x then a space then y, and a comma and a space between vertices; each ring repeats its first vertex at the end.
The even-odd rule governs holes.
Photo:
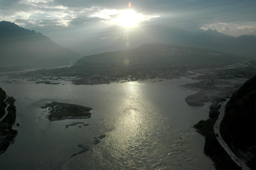
MULTIPOLYGON (((223 170, 239 169, 217 142, 213 126, 217 119, 220 106, 212 106, 209 118, 194 125, 204 135, 204 151, 209 155, 216 167, 223 170)), ((225 116, 220 124, 220 133, 230 149, 246 161, 252 170, 256 169, 256 76, 246 81, 227 103, 225 116)))

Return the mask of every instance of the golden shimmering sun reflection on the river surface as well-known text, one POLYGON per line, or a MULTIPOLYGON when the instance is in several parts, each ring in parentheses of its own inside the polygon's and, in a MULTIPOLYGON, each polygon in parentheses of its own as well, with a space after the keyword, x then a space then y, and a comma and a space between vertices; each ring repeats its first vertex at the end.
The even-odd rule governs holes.
MULTIPOLYGON (((156 135, 152 134, 158 122, 152 121, 156 120, 153 114, 156 112, 153 108, 155 109, 156 106, 150 99, 145 99, 142 86, 146 85, 138 82, 123 83, 123 96, 118 103, 120 115, 113 127, 113 133, 109 136, 109 142, 112 141, 109 145, 111 148, 109 154, 118 155, 119 162, 129 165, 131 169, 133 163, 145 164, 152 161, 147 160, 146 157, 149 157, 152 148, 158 145, 156 135)), ((113 164, 118 164, 116 160, 112 161, 113 164)))

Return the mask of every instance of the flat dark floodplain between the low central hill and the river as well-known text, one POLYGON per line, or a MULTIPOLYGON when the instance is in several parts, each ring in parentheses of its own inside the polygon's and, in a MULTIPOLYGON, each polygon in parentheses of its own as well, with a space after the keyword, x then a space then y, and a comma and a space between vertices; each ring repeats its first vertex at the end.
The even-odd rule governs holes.
MULTIPOLYGON (((149 80, 164 81, 181 77, 200 80, 198 83, 185 84, 182 87, 197 91, 185 101, 189 106, 201 107, 205 102, 214 102, 237 90, 250 77, 256 74, 252 61, 236 64, 185 64, 171 67, 154 67, 151 70, 133 71, 125 68, 120 71, 84 72, 83 70, 64 67, 58 69, 42 69, 23 73, 6 74, 4 83, 45 83, 49 85, 95 85, 110 83, 126 83, 130 81, 149 80), (249 71, 250 70, 250 71, 249 71)), ((1 80, 0 80, 1 81, 1 80)))

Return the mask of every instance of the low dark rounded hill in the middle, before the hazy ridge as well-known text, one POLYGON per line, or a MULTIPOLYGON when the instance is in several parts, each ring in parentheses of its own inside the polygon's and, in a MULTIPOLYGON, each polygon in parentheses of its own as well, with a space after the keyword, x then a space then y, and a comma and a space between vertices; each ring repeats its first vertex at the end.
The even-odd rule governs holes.
POLYGON ((200 48, 185 48, 166 44, 144 44, 139 48, 126 51, 113 51, 98 55, 85 56, 73 67, 116 67, 129 66, 137 69, 172 66, 178 64, 214 64, 242 61, 237 55, 200 48))

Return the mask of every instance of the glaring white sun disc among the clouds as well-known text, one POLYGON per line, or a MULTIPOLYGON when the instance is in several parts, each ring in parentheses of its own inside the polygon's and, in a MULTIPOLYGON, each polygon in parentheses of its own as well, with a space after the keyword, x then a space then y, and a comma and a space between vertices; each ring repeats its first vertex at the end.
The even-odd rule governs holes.
POLYGON ((125 26, 127 28, 134 27, 139 21, 143 20, 143 15, 135 13, 134 10, 123 10, 117 17, 116 21, 120 26, 125 26))

